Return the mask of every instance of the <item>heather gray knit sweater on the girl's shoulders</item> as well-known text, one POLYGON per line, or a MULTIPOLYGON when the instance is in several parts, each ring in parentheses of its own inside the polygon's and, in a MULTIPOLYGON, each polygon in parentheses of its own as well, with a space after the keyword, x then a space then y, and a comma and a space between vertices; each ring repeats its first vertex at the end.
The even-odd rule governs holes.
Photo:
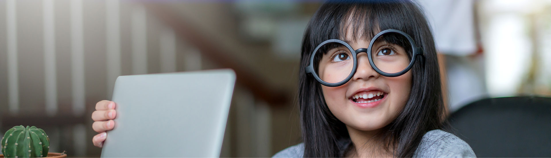
MULTIPOLYGON (((344 145, 348 146, 350 142, 344 145)), ((302 157, 303 155, 304 144, 300 143, 279 151, 273 157, 302 157)), ((465 141, 451 133, 436 129, 423 135, 413 157, 476 157, 476 155, 465 141)))

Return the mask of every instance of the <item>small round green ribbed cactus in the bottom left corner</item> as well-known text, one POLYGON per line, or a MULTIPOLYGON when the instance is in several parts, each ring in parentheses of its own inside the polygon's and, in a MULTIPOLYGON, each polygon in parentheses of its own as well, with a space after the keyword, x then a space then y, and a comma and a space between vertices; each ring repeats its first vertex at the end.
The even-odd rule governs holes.
POLYGON ((46 157, 50 138, 40 128, 15 126, 4 134, 0 145, 4 157, 46 157))

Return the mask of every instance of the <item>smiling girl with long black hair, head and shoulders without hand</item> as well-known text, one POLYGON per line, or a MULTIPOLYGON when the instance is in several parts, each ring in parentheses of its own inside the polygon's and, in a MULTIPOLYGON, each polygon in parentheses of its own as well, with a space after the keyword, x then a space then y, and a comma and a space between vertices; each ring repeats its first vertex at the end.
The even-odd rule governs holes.
POLYGON ((434 40, 413 2, 323 4, 300 67, 304 142, 273 157, 475 157, 440 130, 434 40))

